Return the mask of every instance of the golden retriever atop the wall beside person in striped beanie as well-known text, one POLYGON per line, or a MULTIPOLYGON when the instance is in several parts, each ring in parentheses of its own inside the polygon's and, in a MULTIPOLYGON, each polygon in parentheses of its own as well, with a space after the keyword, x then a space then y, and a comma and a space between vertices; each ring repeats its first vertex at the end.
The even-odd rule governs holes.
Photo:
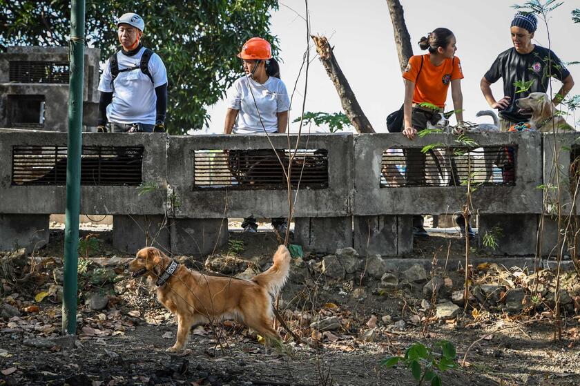
POLYGON ((532 130, 542 133, 556 133, 572 131, 572 126, 566 123, 566 119, 555 115, 557 110, 550 97, 546 93, 531 93, 528 97, 517 99, 516 106, 523 113, 532 113, 530 126, 532 130))

